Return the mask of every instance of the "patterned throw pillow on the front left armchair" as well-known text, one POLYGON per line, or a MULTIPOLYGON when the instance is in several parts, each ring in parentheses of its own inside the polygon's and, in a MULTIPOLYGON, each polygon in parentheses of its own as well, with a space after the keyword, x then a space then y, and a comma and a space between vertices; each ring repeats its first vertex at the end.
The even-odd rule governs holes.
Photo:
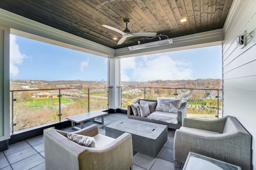
POLYGON ((68 135, 68 139, 70 139, 82 146, 88 146, 88 147, 96 147, 97 146, 94 137, 84 136, 84 135, 80 135, 80 134, 67 134, 67 135, 68 135))

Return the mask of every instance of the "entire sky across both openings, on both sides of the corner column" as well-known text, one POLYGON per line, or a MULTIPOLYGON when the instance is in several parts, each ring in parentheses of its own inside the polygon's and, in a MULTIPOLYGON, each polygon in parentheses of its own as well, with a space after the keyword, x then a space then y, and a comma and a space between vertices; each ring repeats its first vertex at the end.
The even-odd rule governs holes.
MULTIPOLYGON (((107 58, 10 36, 10 78, 107 80, 107 58)), ((122 81, 222 78, 222 46, 121 59, 122 81)))

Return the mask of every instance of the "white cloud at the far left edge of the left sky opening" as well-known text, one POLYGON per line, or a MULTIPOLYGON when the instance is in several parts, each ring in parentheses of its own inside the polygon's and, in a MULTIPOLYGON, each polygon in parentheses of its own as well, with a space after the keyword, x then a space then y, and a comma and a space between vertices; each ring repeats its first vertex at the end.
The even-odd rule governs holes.
POLYGON ((10 76, 15 77, 19 74, 17 65, 22 64, 25 54, 21 54, 20 47, 16 43, 16 36, 10 35, 10 76))

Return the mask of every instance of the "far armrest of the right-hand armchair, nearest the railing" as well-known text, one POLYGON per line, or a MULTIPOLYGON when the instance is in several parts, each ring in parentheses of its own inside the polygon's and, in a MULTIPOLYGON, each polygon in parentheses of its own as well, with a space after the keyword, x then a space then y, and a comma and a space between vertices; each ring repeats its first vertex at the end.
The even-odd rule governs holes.
POLYGON ((215 120, 184 118, 184 123, 182 126, 223 133, 227 118, 228 116, 215 120))

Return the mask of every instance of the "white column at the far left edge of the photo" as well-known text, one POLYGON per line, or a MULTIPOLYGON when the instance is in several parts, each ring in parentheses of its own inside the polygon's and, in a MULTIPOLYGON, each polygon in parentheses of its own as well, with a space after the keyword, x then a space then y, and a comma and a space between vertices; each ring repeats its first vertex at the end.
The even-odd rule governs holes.
POLYGON ((0 25, 0 143, 10 139, 9 46, 10 28, 0 25))

